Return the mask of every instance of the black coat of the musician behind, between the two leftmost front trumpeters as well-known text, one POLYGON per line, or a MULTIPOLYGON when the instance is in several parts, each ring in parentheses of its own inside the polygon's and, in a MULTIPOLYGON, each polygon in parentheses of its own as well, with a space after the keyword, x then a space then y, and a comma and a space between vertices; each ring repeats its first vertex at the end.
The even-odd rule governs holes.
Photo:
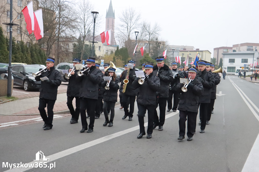
POLYGON ((79 90, 80 90, 81 83, 76 80, 76 76, 77 76, 78 71, 79 70, 75 70, 75 74, 71 75, 69 77, 69 79, 66 79, 65 75, 63 76, 64 80, 68 81, 68 86, 67 86, 67 96, 68 97, 72 97, 72 96, 73 97, 79 97, 79 90))

